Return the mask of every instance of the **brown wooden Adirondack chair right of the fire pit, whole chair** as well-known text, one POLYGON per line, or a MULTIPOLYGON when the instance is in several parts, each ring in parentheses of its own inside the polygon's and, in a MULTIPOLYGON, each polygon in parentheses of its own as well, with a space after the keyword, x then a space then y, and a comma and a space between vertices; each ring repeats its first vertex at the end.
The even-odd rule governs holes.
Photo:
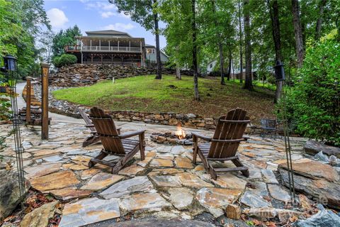
POLYGON ((217 122, 216 130, 212 138, 193 134, 193 163, 196 163, 197 155, 203 162, 203 165, 213 179, 217 179, 216 172, 241 171, 244 176, 249 177, 248 167, 245 167, 237 156, 239 143, 245 141, 243 138, 246 125, 250 123, 246 117, 246 111, 242 109, 233 109, 226 116, 220 116, 217 122), (210 143, 198 144, 198 138, 210 143), (214 168, 209 161, 232 161, 237 167, 231 168, 214 168))

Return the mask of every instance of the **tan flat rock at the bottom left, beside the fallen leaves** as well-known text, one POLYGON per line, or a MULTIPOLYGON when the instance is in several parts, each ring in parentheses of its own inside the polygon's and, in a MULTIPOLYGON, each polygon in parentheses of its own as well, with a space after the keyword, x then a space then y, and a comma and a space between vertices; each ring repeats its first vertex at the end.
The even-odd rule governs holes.
POLYGON ((21 227, 46 227, 50 218, 55 215, 55 206, 60 204, 59 201, 53 201, 48 204, 44 204, 37 209, 34 209, 30 213, 23 217, 20 223, 21 227))

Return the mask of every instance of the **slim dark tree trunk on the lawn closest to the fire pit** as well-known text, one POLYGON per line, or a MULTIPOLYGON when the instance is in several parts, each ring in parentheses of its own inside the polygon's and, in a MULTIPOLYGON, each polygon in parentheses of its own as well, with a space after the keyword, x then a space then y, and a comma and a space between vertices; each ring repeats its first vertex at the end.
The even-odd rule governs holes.
POLYGON ((196 13, 195 13, 195 0, 191 0, 191 11, 193 18, 191 21, 191 29, 193 31, 193 89, 196 101, 200 101, 200 94, 198 94, 198 72, 197 72, 197 43, 196 43, 196 13))

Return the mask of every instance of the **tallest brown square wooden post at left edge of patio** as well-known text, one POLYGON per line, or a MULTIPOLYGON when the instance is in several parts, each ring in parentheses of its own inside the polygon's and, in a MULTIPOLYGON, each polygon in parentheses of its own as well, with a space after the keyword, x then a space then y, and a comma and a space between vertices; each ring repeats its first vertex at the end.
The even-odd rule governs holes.
POLYGON ((48 70, 50 65, 47 63, 41 63, 41 109, 42 109, 42 122, 41 122, 41 139, 48 139, 48 70))

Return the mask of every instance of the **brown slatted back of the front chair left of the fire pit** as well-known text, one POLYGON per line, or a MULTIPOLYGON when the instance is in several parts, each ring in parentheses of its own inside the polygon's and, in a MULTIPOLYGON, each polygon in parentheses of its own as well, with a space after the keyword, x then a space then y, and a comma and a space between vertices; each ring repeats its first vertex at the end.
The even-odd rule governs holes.
POLYGON ((97 134, 101 138, 101 143, 108 153, 125 154, 122 141, 118 137, 117 128, 110 115, 96 107, 91 109, 90 119, 94 123, 97 134))

